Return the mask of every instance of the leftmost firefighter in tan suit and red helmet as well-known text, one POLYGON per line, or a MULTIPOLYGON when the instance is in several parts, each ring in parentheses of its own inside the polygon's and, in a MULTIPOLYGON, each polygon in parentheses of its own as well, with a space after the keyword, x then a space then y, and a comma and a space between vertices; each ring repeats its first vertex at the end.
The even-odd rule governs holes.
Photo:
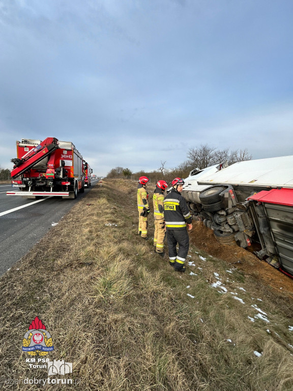
POLYGON ((138 235, 148 240, 148 216, 150 214, 149 193, 147 191, 148 177, 140 177, 137 187, 137 208, 138 208, 138 235))

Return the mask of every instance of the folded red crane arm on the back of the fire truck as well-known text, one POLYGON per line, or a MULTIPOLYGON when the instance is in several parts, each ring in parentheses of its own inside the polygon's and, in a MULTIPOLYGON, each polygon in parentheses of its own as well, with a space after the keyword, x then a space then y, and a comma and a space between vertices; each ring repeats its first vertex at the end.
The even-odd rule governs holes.
POLYGON ((59 148, 57 142, 57 138, 47 137, 36 148, 31 149, 31 151, 23 155, 21 159, 11 159, 11 161, 15 164, 11 171, 11 178, 15 178, 29 170, 33 165, 44 159, 44 157, 48 156, 52 151, 59 148))

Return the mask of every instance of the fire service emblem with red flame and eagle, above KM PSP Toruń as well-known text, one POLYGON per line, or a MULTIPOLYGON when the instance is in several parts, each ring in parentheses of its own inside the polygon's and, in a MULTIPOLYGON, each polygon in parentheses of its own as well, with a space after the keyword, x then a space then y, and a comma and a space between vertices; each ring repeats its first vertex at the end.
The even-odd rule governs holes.
POLYGON ((51 334, 37 316, 26 330, 22 344, 22 350, 31 356, 45 356, 54 350, 51 334))

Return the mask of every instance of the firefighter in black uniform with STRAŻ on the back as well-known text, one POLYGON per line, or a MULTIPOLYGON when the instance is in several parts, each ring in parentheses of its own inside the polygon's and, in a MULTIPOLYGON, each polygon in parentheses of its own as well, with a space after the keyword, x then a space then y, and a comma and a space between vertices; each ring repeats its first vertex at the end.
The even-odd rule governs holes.
POLYGON ((184 262, 189 249, 189 237, 186 230, 192 229, 192 218, 188 206, 181 192, 184 185, 182 178, 172 181, 171 191, 164 200, 164 216, 167 229, 167 243, 169 248, 169 264, 175 271, 185 272, 184 262), (179 244, 177 253, 176 245, 179 244))

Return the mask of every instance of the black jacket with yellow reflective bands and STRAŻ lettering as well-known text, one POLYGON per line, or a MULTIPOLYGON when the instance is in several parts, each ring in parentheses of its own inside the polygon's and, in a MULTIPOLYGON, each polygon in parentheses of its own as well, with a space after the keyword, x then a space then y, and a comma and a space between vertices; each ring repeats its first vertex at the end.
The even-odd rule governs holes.
POLYGON ((164 200, 164 216, 167 230, 184 230, 192 222, 185 199, 173 187, 164 200))

